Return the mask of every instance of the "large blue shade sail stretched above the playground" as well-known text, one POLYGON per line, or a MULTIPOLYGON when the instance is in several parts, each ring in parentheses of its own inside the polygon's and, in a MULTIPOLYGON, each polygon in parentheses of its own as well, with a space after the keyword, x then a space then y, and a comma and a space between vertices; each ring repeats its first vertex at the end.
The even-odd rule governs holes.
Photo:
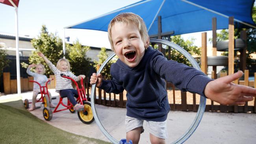
POLYGON ((142 0, 99 17, 66 28, 108 31, 108 24, 119 13, 132 12, 143 18, 149 35, 158 33, 161 16, 162 33, 173 35, 212 29, 212 18, 217 18, 217 29, 228 28, 228 17, 234 17, 235 28, 256 28, 252 20, 254 0, 142 0))

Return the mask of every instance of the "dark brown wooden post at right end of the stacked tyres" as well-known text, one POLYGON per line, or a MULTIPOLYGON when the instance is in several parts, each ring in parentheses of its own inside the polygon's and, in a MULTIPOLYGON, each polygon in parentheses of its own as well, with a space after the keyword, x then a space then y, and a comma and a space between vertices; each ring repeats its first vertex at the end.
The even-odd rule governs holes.
POLYGON ((245 42, 245 47, 240 50, 240 64, 239 69, 244 71, 246 68, 246 49, 247 49, 247 34, 246 31, 241 31, 240 38, 245 42))

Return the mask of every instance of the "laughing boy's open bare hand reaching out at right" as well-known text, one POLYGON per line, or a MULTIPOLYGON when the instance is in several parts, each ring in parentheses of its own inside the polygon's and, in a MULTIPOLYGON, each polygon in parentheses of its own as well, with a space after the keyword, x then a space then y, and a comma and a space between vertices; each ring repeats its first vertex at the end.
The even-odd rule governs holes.
POLYGON ((204 89, 205 96, 223 105, 244 105, 245 102, 252 101, 256 96, 255 88, 232 83, 242 75, 243 72, 238 71, 235 74, 210 81, 204 89))

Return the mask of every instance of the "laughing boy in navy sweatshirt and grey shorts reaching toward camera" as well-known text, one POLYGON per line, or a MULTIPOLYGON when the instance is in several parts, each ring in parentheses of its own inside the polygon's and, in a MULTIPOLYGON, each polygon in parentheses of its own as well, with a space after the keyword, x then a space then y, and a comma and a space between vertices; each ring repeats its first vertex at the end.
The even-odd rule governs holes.
POLYGON ((231 83, 242 76, 241 71, 213 80, 193 67, 168 61, 161 52, 149 46, 145 23, 134 13, 121 13, 113 18, 108 26, 108 38, 119 57, 111 65, 113 79, 104 80, 101 74, 93 73, 90 83, 108 93, 127 91, 126 139, 133 144, 139 142, 144 120, 150 142, 165 143, 170 106, 164 79, 182 91, 197 93, 225 105, 243 105, 256 95, 256 89, 231 83))

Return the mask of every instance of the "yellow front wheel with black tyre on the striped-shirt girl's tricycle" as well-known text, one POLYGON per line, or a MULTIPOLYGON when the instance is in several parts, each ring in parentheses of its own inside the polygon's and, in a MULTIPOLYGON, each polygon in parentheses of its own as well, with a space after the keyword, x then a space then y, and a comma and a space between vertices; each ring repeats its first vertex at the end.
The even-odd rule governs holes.
POLYGON ((91 109, 91 103, 86 101, 86 102, 83 102, 83 105, 84 105, 83 111, 77 112, 78 118, 84 124, 91 124, 94 121, 93 111, 91 109))

